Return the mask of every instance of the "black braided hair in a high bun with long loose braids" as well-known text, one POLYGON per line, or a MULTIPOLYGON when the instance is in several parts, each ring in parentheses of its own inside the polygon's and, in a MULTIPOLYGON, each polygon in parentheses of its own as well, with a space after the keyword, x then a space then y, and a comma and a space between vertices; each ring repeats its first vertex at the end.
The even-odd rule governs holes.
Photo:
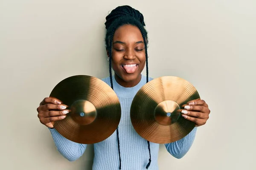
MULTIPOLYGON (((124 25, 132 25, 136 26, 140 29, 140 32, 143 37, 144 45, 145 45, 145 57, 146 57, 146 77, 148 82, 148 33, 145 30, 145 23, 143 14, 140 11, 132 8, 131 6, 118 6, 117 8, 113 9, 110 14, 106 17, 105 28, 107 29, 106 37, 105 37, 105 44, 108 50, 108 57, 109 57, 109 75, 111 81, 111 88, 113 89, 113 80, 112 80, 112 67, 111 67, 111 60, 112 60, 112 43, 113 43, 113 35, 121 26, 124 25)), ((119 153, 119 170, 121 169, 121 156, 120 156, 120 143, 119 143, 119 132, 118 127, 116 129, 117 133, 117 142, 118 142, 118 153, 119 153)), ((148 151, 149 151, 149 161, 146 166, 148 169, 151 163, 151 152, 150 152, 150 144, 148 141, 148 151)))

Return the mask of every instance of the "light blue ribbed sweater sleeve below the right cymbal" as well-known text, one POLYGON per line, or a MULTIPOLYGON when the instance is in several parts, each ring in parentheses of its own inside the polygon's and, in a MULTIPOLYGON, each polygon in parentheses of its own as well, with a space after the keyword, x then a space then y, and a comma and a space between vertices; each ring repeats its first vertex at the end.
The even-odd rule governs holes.
POLYGON ((194 142, 196 130, 197 127, 195 127, 188 135, 182 139, 165 144, 168 152, 177 159, 181 159, 183 156, 185 156, 192 146, 192 143, 194 142))

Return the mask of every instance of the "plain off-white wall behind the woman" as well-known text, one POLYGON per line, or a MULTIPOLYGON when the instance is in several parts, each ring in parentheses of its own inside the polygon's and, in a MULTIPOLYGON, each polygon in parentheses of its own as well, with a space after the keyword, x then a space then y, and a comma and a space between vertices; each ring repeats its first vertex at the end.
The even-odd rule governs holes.
POLYGON ((211 110, 182 159, 161 145, 160 170, 255 170, 255 0, 1 0, 0 169, 91 169, 92 145, 67 161, 36 108, 64 78, 108 76, 104 23, 119 5, 144 15, 150 77, 188 80, 211 110))

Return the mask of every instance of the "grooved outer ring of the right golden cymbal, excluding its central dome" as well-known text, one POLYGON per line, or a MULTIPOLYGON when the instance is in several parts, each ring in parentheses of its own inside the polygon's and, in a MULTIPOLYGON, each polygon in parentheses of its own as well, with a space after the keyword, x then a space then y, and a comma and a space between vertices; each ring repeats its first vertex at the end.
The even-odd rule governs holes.
POLYGON ((153 79, 143 85, 134 96, 131 104, 131 123, 135 131, 149 142, 159 144, 175 142, 191 132, 195 127, 195 123, 183 118, 183 116, 179 116, 177 122, 171 125, 161 125, 152 116, 154 109, 160 102, 165 100, 178 101, 177 103, 179 103, 181 108, 181 105, 193 99, 200 99, 200 96, 195 87, 185 79, 174 76, 153 79), (173 88, 176 88, 176 90, 181 89, 181 86, 184 85, 184 93, 166 92, 171 90, 171 88, 172 90, 174 90, 173 88), (184 98, 184 101, 180 102, 180 98, 184 98))

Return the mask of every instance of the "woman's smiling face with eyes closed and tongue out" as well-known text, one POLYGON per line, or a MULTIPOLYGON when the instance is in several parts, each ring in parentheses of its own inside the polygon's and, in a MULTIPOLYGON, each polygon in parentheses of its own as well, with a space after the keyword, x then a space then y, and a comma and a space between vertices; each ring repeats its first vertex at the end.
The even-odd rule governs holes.
POLYGON ((113 35, 112 68, 125 82, 140 79, 145 67, 145 46, 140 29, 124 25, 113 35))

